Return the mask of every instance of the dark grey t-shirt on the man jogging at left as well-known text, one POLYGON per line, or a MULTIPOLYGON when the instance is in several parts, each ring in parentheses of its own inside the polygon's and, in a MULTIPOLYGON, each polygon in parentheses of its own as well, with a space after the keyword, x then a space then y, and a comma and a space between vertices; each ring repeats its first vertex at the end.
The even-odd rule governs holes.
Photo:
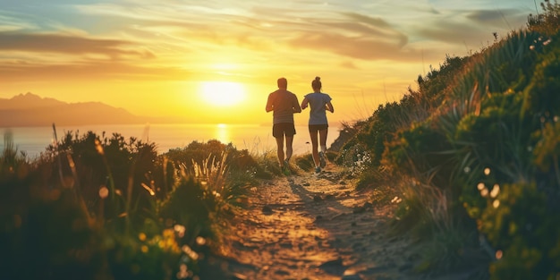
POLYGON ((273 123, 293 123, 293 108, 299 108, 298 97, 286 89, 268 95, 267 106, 273 107, 273 123))

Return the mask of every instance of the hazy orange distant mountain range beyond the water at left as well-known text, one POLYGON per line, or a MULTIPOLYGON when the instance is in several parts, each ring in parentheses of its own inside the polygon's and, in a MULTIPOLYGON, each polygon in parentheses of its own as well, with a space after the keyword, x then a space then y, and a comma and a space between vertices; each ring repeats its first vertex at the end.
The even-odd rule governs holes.
POLYGON ((100 102, 65 103, 32 93, 0 98, 0 127, 177 123, 177 120, 132 115, 100 102))

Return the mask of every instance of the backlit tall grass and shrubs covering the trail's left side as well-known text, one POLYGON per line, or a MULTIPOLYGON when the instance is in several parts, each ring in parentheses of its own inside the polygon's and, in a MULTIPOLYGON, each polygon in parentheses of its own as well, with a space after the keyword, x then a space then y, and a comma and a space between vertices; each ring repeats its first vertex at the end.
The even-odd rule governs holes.
POLYGON ((67 132, 28 163, 10 136, 0 155, 3 279, 192 278, 220 207, 256 168, 217 142, 157 156, 155 143, 93 132, 67 132), (232 180, 237 172, 248 175, 232 180))

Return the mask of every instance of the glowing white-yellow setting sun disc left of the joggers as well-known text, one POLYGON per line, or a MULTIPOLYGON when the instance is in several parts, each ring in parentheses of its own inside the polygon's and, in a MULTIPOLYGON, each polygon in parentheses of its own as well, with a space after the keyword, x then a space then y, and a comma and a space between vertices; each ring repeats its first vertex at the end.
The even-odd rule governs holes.
POLYGON ((211 105, 233 106, 245 99, 245 88, 233 81, 203 81, 200 83, 202 98, 211 105))

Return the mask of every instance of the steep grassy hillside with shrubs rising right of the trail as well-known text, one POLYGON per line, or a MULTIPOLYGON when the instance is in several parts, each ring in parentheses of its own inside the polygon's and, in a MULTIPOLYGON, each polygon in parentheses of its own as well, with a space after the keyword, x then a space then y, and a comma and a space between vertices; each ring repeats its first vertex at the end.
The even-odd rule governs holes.
POLYGON ((560 273, 560 7, 541 7, 526 29, 419 76, 342 148, 362 185, 399 178, 395 225, 426 244, 420 272, 560 273))

